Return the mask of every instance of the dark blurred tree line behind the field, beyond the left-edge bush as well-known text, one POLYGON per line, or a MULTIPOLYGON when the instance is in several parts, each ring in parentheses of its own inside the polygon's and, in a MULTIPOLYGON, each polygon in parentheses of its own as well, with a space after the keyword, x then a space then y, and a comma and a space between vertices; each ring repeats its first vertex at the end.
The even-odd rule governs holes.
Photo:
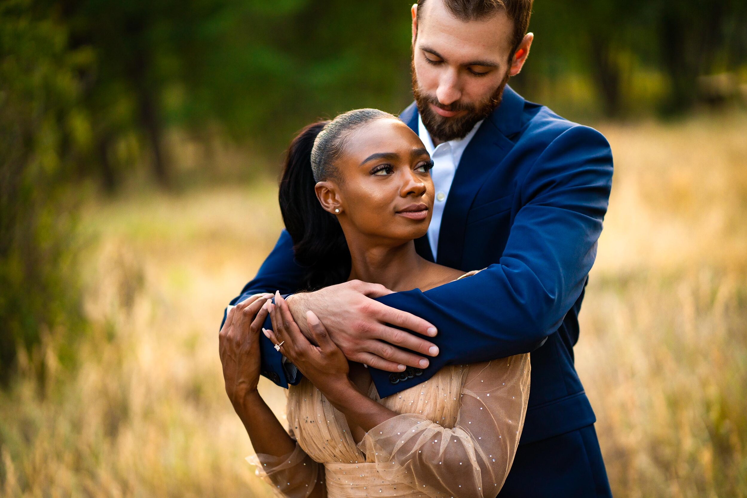
MULTIPOLYGON (((141 164, 173 184, 170 130, 276 157, 311 119, 365 106, 400 111, 410 100, 409 5, 29 0, 16 9, 63 28, 59 50, 90 55, 74 75, 86 140, 76 172, 113 191, 141 164)), ((512 84, 561 110, 585 99, 607 116, 684 112, 702 97, 698 78, 737 74, 747 61, 742 0, 538 0, 535 11, 532 57, 512 84)), ((739 93, 734 81, 709 98, 739 93)))

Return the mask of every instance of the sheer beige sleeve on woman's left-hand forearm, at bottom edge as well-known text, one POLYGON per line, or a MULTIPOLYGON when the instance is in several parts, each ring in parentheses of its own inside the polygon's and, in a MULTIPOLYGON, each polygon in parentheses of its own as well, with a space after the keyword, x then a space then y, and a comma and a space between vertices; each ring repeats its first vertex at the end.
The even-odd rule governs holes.
POLYGON ((326 496, 323 465, 311 460, 298 443, 288 455, 276 457, 258 453, 248 456, 247 461, 257 467, 256 475, 272 486, 277 497, 307 498, 317 482, 320 489, 314 496, 326 496))

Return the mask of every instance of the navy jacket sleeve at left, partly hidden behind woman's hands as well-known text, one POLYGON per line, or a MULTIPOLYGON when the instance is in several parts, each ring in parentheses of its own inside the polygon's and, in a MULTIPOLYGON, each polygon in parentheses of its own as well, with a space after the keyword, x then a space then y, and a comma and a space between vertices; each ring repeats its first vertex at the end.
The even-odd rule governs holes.
MULTIPOLYGON (((241 294, 232 299, 230 304, 235 305, 256 293, 274 293, 276 290, 279 290, 281 294, 294 293, 300 287, 302 276, 303 268, 297 264, 293 255, 291 235, 288 234, 288 231, 283 230, 272 252, 259 267, 257 275, 252 281, 244 285, 241 294)), ((226 311, 223 311, 221 327, 223 327, 225 321, 226 311)), ((269 317, 264 326, 267 329, 272 328, 269 317)), ((298 381, 296 378, 288 379, 282 365, 282 355, 274 349, 273 343, 267 337, 264 337, 264 334, 259 335, 259 345, 261 351, 260 368, 263 376, 282 387, 288 387, 288 382, 298 381)))

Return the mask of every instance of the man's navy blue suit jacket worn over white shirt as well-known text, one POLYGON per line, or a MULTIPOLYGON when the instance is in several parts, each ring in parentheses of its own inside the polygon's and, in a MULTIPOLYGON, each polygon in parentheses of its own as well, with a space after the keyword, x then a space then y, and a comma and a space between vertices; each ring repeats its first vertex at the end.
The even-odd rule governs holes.
MULTIPOLYGON (((415 104, 400 119, 418 132, 415 104)), ((424 382, 446 364, 531 352, 521 443, 594 423, 573 346, 612 175, 612 152, 598 131, 526 102, 506 86, 503 102, 462 155, 438 239, 438 264, 486 270, 426 292, 379 298, 433 323, 438 335, 430 340, 440 350, 422 375, 410 379, 369 369, 379 396, 424 382)), ((427 236, 415 242, 419 254, 433 261, 427 236)), ((258 292, 293 293, 302 272, 283 231, 231 304, 258 292)), ((261 341, 262 373, 287 387, 281 355, 264 335, 261 341)))

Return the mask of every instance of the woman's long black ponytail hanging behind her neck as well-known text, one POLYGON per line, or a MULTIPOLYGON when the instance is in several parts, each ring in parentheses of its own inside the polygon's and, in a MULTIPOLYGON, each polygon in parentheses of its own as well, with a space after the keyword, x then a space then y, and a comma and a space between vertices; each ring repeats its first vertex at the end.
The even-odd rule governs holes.
POLYGON ((339 284, 350 276, 350 251, 337 219, 324 211, 314 192, 311 149, 329 121, 306 126, 291 142, 280 179, 279 201, 296 261, 304 268, 304 290, 339 284))

